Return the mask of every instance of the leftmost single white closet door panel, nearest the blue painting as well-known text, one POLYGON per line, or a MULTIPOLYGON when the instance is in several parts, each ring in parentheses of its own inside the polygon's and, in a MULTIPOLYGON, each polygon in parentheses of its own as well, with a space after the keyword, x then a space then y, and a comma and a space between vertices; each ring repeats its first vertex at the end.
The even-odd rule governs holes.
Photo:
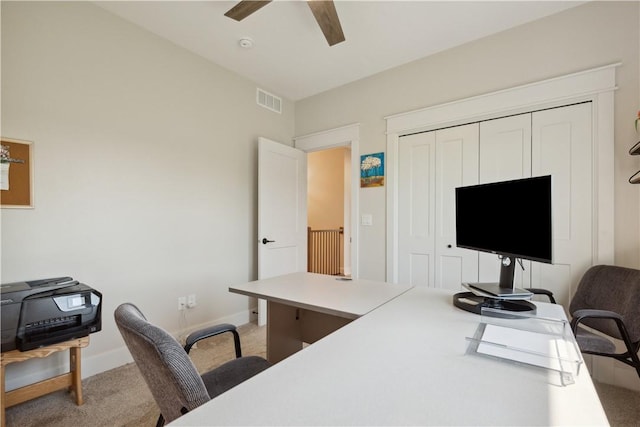
POLYGON ((398 145, 398 281, 434 286, 435 132, 398 145))

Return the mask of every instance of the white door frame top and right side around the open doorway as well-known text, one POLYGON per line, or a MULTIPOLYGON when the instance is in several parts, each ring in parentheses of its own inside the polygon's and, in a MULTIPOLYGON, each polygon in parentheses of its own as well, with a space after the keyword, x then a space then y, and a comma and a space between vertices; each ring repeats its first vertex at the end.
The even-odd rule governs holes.
MULTIPOLYGON (((360 123, 296 136, 293 146, 306 153, 336 147, 351 149, 351 277, 358 278, 358 213, 360 212, 360 123)), ((345 224, 346 226, 346 224, 345 224)))

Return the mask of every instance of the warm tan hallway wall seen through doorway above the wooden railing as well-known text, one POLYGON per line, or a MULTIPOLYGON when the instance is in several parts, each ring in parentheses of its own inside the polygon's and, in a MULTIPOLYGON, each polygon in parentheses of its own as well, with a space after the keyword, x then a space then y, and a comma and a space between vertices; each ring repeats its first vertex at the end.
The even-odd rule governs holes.
POLYGON ((344 147, 307 155, 308 226, 314 230, 344 227, 344 147))

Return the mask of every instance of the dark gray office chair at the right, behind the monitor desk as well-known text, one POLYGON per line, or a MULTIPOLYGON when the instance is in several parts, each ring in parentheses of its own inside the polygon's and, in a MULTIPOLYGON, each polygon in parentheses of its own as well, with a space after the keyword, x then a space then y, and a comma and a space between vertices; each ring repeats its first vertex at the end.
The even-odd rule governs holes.
POLYGON ((640 270, 613 265, 589 268, 578 284, 569 311, 580 351, 633 366, 640 377, 640 270), (622 340, 626 351, 616 351, 609 338, 581 325, 622 340))

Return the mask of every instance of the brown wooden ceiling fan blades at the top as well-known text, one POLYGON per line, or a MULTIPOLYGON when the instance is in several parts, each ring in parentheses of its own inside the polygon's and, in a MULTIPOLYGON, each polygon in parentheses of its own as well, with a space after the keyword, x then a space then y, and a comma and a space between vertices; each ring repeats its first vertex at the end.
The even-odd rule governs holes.
MULTIPOLYGON (((271 0, 242 0, 224 15, 236 21, 242 21, 269 3, 271 3, 271 0)), ((345 40, 344 33, 342 32, 340 19, 338 19, 338 13, 333 1, 308 0, 307 4, 311 8, 311 12, 313 12, 313 16, 315 16, 329 46, 343 42, 345 40)))

